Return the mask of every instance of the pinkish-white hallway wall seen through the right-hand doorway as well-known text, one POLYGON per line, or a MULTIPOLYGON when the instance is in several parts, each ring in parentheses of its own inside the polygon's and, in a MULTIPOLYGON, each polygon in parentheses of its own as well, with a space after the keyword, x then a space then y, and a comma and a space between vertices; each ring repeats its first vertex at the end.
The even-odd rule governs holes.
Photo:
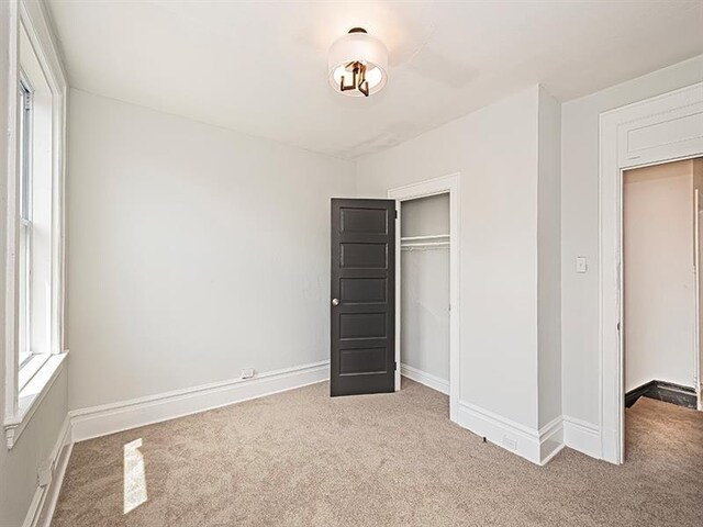
POLYGON ((628 170, 623 190, 625 391, 693 386, 693 164, 628 170))

